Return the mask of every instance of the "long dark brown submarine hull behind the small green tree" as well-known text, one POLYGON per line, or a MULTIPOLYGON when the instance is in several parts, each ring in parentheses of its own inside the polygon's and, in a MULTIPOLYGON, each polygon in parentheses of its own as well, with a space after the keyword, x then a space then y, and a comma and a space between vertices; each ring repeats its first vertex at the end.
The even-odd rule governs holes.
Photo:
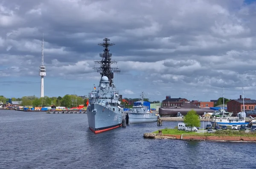
POLYGON ((201 109, 201 108, 159 108, 159 115, 177 115, 177 113, 180 113, 182 115, 186 115, 188 111, 195 110, 198 115, 204 115, 205 113, 214 113, 215 110, 211 109, 201 109))

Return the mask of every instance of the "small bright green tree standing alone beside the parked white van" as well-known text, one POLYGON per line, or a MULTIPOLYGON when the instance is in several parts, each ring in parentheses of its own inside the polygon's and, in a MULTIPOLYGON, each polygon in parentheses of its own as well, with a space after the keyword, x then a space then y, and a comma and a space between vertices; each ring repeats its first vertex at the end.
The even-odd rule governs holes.
POLYGON ((186 127, 200 127, 200 119, 199 115, 196 113, 195 110, 190 110, 185 116, 184 116, 184 123, 186 124, 186 127))

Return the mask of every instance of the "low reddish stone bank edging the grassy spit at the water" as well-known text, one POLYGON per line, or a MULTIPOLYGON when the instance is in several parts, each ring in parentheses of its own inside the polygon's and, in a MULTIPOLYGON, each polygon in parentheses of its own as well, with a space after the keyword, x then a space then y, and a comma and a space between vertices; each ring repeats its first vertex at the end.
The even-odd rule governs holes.
POLYGON ((144 138, 162 138, 162 139, 179 139, 179 140, 199 140, 199 141, 250 141, 256 142, 256 137, 246 136, 228 136, 228 135, 169 135, 159 133, 144 133, 144 138))

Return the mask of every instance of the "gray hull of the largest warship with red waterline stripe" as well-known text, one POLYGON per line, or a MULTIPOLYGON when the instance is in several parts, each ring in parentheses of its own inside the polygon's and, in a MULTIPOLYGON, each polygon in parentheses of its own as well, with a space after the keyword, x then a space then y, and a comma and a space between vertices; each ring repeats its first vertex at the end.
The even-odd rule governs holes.
POLYGON ((87 118, 89 128, 94 133, 105 132, 122 126, 122 114, 113 112, 100 104, 90 104, 87 107, 87 118))

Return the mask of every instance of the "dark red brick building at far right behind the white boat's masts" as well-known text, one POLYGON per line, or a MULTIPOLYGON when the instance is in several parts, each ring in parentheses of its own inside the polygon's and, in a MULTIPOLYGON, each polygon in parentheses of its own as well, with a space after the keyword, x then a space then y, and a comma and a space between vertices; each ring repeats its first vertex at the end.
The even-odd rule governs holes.
POLYGON ((239 99, 234 99, 229 102, 227 102, 227 111, 235 113, 235 115, 239 112, 241 112, 243 109, 244 111, 250 111, 253 110, 256 106, 256 100, 251 100, 244 98, 244 106, 243 106, 243 98, 240 95, 239 99))

